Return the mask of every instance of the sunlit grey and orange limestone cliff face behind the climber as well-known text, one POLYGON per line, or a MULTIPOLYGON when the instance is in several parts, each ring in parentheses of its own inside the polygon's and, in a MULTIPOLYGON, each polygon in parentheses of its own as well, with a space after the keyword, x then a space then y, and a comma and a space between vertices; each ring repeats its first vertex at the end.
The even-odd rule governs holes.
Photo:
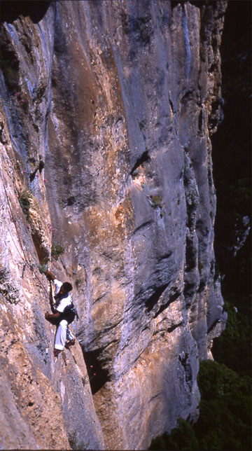
POLYGON ((210 137, 226 4, 14 3, 0 27, 1 445, 146 449, 197 417, 199 359, 225 325, 210 137), (46 263, 80 317, 58 359, 46 263))

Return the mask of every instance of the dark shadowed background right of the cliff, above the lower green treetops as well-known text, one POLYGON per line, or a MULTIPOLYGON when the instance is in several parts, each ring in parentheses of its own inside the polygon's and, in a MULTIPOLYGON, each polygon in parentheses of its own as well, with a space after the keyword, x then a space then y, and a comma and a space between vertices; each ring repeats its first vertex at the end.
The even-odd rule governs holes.
POLYGON ((221 45, 224 118, 212 137, 215 254, 228 324, 214 359, 251 375, 251 1, 229 1, 221 45), (237 237, 246 240, 234 253, 237 237), (237 311, 236 311, 237 310, 237 311))

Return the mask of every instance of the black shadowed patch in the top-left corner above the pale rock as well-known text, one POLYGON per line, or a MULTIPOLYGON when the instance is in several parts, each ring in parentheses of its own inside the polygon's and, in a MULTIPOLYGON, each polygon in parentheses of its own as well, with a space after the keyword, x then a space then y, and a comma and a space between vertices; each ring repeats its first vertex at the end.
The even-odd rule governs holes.
POLYGON ((20 15, 31 18, 34 24, 40 22, 51 4, 44 1, 1 1, 0 22, 13 23, 20 15))

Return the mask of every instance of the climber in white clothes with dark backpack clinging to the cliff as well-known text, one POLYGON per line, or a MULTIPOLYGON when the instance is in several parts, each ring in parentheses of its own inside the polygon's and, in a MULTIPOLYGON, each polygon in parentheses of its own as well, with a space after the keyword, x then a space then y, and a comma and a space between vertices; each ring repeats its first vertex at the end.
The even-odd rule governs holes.
POLYGON ((55 284, 54 298, 56 302, 52 303, 52 298, 50 300, 53 313, 45 312, 45 319, 57 326, 53 350, 54 356, 57 357, 59 352, 64 350, 64 347, 69 349, 70 346, 75 344, 75 339, 69 329, 69 324, 73 321, 76 314, 73 313, 75 310, 71 296, 69 295, 69 291, 71 291, 73 287, 70 282, 64 282, 63 284, 62 282, 59 282, 50 270, 46 270, 45 275, 55 284))

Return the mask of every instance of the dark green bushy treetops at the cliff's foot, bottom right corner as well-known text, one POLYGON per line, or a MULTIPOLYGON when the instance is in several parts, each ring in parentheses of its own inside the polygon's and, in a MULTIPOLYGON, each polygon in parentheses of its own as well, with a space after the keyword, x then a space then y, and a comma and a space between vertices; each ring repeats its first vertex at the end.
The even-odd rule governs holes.
POLYGON ((251 445, 251 377, 215 361, 202 361, 198 375, 200 418, 179 419, 150 450, 248 450, 251 445))

